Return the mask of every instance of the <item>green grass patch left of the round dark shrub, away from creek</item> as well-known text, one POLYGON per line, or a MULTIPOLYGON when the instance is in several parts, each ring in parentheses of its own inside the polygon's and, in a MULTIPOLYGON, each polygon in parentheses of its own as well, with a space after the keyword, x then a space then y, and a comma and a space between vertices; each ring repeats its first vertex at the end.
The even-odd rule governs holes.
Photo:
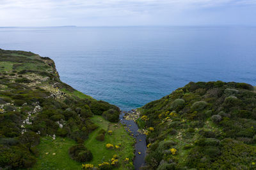
POLYGON ((74 145, 76 141, 69 138, 57 137, 55 141, 50 137, 41 138, 38 145, 40 156, 32 169, 81 169, 81 164, 68 155, 68 149, 74 145))

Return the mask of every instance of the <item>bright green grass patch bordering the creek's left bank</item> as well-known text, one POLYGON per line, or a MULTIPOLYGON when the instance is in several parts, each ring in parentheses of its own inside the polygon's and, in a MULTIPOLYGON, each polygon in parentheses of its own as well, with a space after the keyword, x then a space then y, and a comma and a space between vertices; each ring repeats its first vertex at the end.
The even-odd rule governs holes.
POLYGON ((99 128, 92 132, 89 135, 89 139, 84 143, 93 154, 93 160, 90 162, 90 164, 97 166, 102 162, 109 162, 113 155, 116 154, 118 155, 118 161, 120 163, 118 169, 127 169, 127 167, 125 167, 124 159, 126 157, 128 157, 130 160, 133 159, 134 139, 129 136, 122 124, 110 123, 100 116, 94 116, 92 121, 99 125, 99 128), (105 131, 113 131, 113 134, 109 135, 106 133, 104 141, 97 141, 95 138, 100 129, 104 129, 105 131), (111 143, 112 145, 118 145, 118 143, 121 143, 121 146, 119 149, 115 148, 109 150, 106 148, 107 143, 111 143))

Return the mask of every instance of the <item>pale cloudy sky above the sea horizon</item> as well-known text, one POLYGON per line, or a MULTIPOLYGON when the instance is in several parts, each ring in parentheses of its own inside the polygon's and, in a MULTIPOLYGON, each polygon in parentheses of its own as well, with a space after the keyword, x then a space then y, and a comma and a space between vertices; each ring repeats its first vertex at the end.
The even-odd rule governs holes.
POLYGON ((0 0, 0 27, 256 25, 256 0, 0 0))

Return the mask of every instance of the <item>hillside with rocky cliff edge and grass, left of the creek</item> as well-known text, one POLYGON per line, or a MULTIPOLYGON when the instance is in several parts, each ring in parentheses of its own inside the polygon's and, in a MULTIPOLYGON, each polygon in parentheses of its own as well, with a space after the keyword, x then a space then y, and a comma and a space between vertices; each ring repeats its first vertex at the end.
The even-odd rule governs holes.
POLYGON ((113 123, 119 114, 118 107, 63 83, 48 57, 0 49, 0 169, 81 169, 84 162, 111 164, 114 154, 111 169, 129 169, 123 159, 133 159, 134 141, 113 123), (89 145, 95 136, 97 145, 89 145), (116 149, 107 150, 110 141, 116 149))

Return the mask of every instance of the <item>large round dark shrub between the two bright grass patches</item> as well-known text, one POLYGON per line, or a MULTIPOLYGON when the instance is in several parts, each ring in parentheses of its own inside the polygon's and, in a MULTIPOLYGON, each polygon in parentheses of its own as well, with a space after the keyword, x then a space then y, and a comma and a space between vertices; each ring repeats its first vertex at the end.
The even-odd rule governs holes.
POLYGON ((69 148, 69 155, 77 162, 87 162, 92 160, 92 152, 88 150, 83 144, 75 145, 69 148))

